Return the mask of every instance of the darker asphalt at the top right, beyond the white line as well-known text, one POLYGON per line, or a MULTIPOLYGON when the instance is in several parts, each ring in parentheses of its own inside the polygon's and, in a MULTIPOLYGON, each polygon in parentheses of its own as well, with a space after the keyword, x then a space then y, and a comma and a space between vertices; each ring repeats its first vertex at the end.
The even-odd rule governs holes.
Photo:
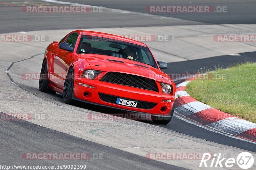
MULTIPOLYGON (((71 2, 68 0, 64 0, 71 2)), ((72 2, 84 4, 83 0, 72 2)), ((86 0, 86 4, 104 6, 120 10, 149 13, 147 6, 227 6, 227 12, 211 13, 154 13, 155 15, 174 17, 208 24, 254 24, 256 19, 255 1, 249 0, 86 0), (246 9, 246 10, 245 10, 246 9)), ((171 23, 169 23, 171 24, 171 23)))

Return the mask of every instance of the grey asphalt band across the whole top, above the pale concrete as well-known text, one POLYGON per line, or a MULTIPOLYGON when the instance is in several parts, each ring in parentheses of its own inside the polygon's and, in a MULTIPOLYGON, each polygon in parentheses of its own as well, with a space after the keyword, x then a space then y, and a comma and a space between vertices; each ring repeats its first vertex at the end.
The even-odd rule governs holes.
MULTIPOLYGON (((65 1, 65 0, 64 0, 65 1)), ((134 26, 174 26, 195 24, 252 24, 256 23, 256 3, 253 0, 240 1, 228 0, 70 0, 66 2, 103 6, 107 8, 153 14, 152 16, 138 15, 138 13, 122 12, 88 12, 88 13, 25 13, 22 11, 24 1, 4 0, 0 4, 1 27, 0 33, 52 30, 52 29, 77 29, 100 27, 134 27, 134 26), (6 4, 3 4, 6 3, 6 4), (227 6, 227 12, 211 13, 148 13, 149 5, 198 5, 198 6, 227 6), (163 19, 159 17, 172 17, 163 19), (178 18, 178 19, 177 19, 178 18)), ((26 1, 32 5, 56 5, 50 2, 26 1)), ((60 5, 60 4, 57 4, 60 5)))

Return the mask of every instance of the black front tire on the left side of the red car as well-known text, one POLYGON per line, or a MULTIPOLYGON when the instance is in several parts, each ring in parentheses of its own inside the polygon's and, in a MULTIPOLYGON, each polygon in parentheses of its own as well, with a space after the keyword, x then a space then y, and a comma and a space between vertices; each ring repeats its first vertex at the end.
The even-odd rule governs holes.
POLYGON ((67 103, 67 104, 74 103, 74 100, 72 99, 73 91, 74 91, 74 69, 70 68, 68 70, 68 74, 65 79, 64 87, 63 87, 62 98, 64 103, 67 103))

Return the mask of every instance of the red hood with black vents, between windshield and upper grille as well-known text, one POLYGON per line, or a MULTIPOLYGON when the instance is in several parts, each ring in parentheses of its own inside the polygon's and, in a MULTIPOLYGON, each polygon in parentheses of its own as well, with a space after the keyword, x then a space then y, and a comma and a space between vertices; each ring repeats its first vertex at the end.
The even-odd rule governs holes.
POLYGON ((169 76, 148 64, 108 55, 77 54, 86 59, 92 70, 121 72, 151 78, 159 82, 172 84, 169 76))

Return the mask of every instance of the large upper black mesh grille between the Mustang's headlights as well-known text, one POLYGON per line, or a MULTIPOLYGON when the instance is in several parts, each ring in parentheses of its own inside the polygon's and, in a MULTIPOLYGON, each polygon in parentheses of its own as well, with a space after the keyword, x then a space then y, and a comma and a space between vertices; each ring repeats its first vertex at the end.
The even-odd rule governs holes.
POLYGON ((100 81, 115 83, 119 85, 127 85, 131 87, 158 92, 155 80, 144 78, 141 76, 135 76, 132 74, 108 72, 100 79, 100 81))

